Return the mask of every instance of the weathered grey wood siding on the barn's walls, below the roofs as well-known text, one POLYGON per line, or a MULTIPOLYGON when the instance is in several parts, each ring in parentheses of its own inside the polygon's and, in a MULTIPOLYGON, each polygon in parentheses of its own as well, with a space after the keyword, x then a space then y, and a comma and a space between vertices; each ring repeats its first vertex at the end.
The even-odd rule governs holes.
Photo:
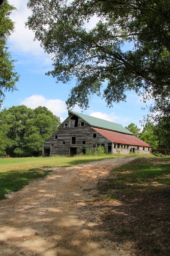
MULTIPOLYGON (((73 123, 73 120, 71 120, 71 126, 73 125, 73 123)), ((43 155, 44 148, 50 148, 50 156, 53 156, 55 154, 70 155, 70 147, 77 148, 77 154, 79 154, 81 153, 81 146, 83 146, 85 150, 87 148, 90 148, 93 153, 95 151, 95 147, 97 148, 98 144, 104 146, 105 153, 108 153, 108 144, 109 150, 111 150, 112 154, 128 154, 130 152, 130 148, 132 147, 135 148, 134 153, 151 153, 151 151, 148 151, 148 147, 146 147, 144 150, 143 147, 139 147, 139 149, 137 150, 137 146, 129 145, 129 147, 127 147, 127 145, 118 145, 117 143, 110 141, 109 139, 105 138, 100 133, 92 129, 89 124, 84 122, 84 120, 80 117, 78 127, 70 128, 70 118, 68 117, 62 124, 62 126, 58 129, 58 131, 44 143, 43 155), (84 126, 81 126, 81 123, 84 123, 84 126), (94 133, 96 133, 96 138, 93 137, 94 133), (71 144, 72 137, 76 137, 75 144, 71 144), (85 142, 85 144, 83 144, 83 142, 85 142)))

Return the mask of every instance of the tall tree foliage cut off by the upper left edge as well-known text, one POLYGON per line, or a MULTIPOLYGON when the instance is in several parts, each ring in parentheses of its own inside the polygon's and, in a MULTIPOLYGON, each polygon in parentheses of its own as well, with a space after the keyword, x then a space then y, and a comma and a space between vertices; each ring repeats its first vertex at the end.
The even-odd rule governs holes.
POLYGON ((17 90, 15 83, 19 80, 14 71, 14 62, 11 54, 7 51, 6 42, 14 30, 14 22, 9 18, 14 6, 4 0, 0 6, 0 106, 5 98, 6 91, 17 90))

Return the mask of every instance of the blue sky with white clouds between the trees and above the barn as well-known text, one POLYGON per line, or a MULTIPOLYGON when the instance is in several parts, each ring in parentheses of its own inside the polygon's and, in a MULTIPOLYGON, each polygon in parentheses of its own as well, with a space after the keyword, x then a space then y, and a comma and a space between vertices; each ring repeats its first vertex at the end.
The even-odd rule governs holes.
MULTIPOLYGON (((63 121, 68 116, 65 101, 75 81, 71 81, 68 85, 62 82, 56 83, 52 76, 45 75, 46 71, 52 69, 52 62, 50 56, 40 47, 39 42, 33 41, 33 31, 25 28, 24 23, 30 14, 30 10, 27 9, 28 1, 8 0, 8 2, 17 8, 11 15, 11 19, 15 22, 15 31, 10 36, 7 45, 12 58, 17 60, 15 70, 20 74, 20 79, 16 83, 18 91, 7 92, 3 106, 6 108, 20 104, 30 108, 36 108, 39 105, 46 106, 63 121)), ((140 128, 139 120, 148 114, 147 108, 145 111, 141 110, 144 106, 140 97, 133 91, 127 93, 126 102, 115 103, 113 108, 108 108, 104 100, 93 95, 89 108, 83 113, 123 126, 134 123, 140 128)), ((80 113, 82 111, 78 107, 73 110, 80 113)))

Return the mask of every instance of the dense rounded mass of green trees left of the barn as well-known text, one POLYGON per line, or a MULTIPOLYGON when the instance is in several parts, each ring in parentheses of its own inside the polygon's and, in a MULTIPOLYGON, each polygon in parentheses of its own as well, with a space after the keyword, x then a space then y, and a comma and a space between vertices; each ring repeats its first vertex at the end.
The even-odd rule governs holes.
POLYGON ((46 107, 12 106, 0 112, 0 155, 39 156, 43 143, 61 124, 46 107))

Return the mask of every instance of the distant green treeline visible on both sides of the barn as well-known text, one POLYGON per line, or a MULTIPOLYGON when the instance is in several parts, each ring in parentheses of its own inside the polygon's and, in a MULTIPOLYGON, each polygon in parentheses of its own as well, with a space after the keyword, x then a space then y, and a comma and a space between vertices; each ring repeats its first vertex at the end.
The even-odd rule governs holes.
MULTIPOLYGON (((40 156, 43 143, 61 124, 45 106, 30 109, 25 105, 12 106, 0 112, 0 156, 40 156)), ((125 128, 152 148, 170 148, 170 121, 164 118, 158 125, 147 123, 143 130, 134 123, 125 128)))

